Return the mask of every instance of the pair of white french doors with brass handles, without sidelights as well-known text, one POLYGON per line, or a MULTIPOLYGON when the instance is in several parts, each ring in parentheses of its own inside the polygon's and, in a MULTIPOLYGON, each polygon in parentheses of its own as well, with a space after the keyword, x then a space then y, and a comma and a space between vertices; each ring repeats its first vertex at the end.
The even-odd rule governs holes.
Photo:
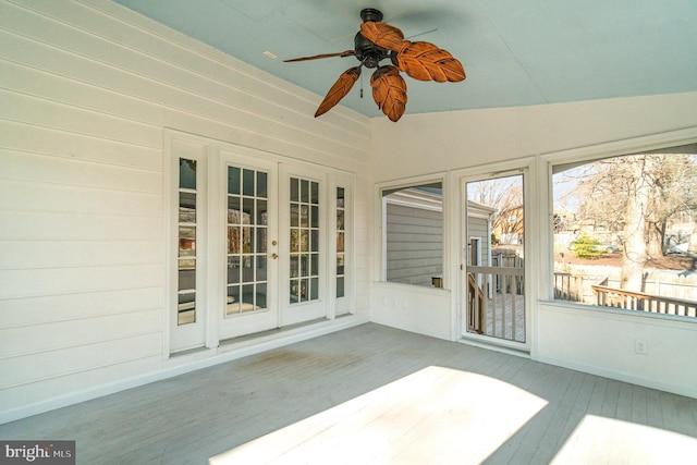
POLYGON ((325 317, 325 175, 222 152, 225 302, 219 339, 325 317))

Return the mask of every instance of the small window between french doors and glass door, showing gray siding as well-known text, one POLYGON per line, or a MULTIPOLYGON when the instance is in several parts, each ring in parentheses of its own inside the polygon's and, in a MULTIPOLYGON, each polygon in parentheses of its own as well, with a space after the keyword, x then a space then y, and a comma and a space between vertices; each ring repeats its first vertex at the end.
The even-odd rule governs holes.
POLYGON ((443 191, 440 182, 382 191, 383 279, 441 286, 443 191))

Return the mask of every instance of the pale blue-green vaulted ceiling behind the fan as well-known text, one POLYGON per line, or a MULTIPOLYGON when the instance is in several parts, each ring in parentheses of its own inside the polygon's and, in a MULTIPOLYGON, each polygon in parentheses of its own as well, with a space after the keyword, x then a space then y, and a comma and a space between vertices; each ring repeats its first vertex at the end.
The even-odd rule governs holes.
MULTIPOLYGON (((114 1, 318 96, 356 59, 283 60, 353 49, 360 10, 377 8, 467 73, 462 83, 406 77, 406 114, 697 90, 696 0, 114 1)), ((365 98, 359 82, 341 105, 377 117, 370 72, 365 98)))

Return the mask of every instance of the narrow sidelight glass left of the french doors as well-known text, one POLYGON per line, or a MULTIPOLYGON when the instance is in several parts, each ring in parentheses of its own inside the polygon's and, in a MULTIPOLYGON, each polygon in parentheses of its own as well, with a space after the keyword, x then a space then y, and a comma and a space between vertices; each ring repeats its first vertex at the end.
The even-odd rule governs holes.
POLYGON ((178 325, 196 322, 196 160, 179 160, 178 325))

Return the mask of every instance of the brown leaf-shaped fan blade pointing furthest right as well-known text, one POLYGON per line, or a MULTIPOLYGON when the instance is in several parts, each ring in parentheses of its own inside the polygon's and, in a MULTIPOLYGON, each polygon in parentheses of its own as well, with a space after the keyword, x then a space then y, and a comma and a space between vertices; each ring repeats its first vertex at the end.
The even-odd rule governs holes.
POLYGON ((430 42, 402 44, 396 56, 400 71, 418 81, 436 81, 438 83, 457 83, 464 81, 465 69, 449 51, 430 42))

